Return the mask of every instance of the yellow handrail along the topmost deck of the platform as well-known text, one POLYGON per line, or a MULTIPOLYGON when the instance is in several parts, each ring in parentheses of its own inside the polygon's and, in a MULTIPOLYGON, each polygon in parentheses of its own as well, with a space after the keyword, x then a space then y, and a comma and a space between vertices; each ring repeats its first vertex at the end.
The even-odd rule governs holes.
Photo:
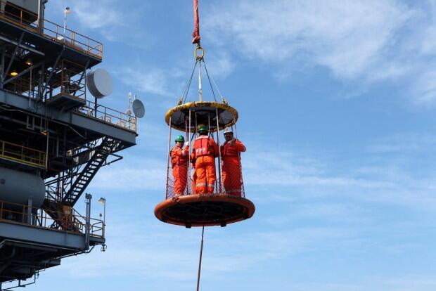
MULTIPOLYGON (((30 32, 38 32, 37 21, 30 22, 30 20, 25 18, 25 15, 27 15, 29 18, 33 17, 37 19, 37 14, 30 11, 25 11, 20 6, 16 6, 11 2, 7 3, 7 7, 12 7, 13 12, 5 10, 4 13, 0 13, 0 19, 23 27, 30 32)), ((101 42, 91 39, 90 37, 86 37, 83 34, 79 34, 68 28, 65 28, 65 33, 63 30, 63 26, 44 19, 44 25, 41 34, 47 39, 70 46, 71 48, 75 48, 77 51, 82 51, 100 59, 103 58, 103 44, 101 44, 101 42)))

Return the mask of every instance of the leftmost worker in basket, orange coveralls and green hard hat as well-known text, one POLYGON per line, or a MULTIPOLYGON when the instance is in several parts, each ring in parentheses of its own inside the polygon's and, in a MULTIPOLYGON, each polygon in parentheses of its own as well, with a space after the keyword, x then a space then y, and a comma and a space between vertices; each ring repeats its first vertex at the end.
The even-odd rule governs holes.
POLYGON ((181 135, 175 139, 176 145, 171 150, 172 176, 174 177, 174 195, 182 195, 188 179, 189 141, 181 135), (185 148, 183 148, 185 143, 185 148))

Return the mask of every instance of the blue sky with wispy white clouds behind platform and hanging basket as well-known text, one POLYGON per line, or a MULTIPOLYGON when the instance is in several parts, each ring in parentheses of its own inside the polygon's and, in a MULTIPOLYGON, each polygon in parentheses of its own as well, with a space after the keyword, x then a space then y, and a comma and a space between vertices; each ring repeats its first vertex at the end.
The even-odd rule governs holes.
MULTIPOLYGON (((48 19, 70 6, 68 26, 103 42, 115 87, 103 105, 125 110, 132 91, 146 117, 89 186, 108 201, 107 252, 65 259, 30 290, 194 290, 201 229, 153 214, 164 115, 193 67, 191 5, 49 1, 48 19)), ((257 207, 206 229, 201 290, 435 290, 436 2, 200 1, 200 34, 240 114, 257 207)))

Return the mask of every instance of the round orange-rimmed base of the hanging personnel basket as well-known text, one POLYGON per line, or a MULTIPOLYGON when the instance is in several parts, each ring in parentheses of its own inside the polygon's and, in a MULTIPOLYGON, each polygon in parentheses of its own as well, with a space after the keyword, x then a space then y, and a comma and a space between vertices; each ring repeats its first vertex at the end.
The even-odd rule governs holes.
POLYGON ((181 195, 160 202, 155 216, 167 224, 179 226, 226 226, 249 219, 255 205, 248 199, 220 194, 181 195))

